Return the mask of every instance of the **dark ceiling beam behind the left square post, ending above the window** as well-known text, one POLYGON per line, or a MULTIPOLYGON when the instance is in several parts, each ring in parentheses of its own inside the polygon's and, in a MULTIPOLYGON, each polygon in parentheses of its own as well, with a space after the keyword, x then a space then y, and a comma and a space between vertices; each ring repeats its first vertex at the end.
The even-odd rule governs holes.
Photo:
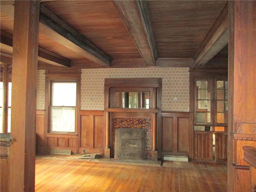
MULTIPOLYGON (((12 35, 8 34, 1 30, 0 37, 1 47, 12 52, 12 35)), ((51 65, 61 66, 61 67, 70 67, 71 60, 49 52, 43 48, 38 48, 38 61, 42 61, 51 65)))

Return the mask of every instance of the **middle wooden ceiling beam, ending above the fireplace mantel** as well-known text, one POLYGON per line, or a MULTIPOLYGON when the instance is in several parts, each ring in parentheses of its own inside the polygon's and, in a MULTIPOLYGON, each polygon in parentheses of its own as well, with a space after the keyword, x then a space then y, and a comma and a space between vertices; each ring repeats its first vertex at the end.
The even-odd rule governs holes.
POLYGON ((130 32, 146 65, 155 66, 157 52, 147 1, 114 0, 113 4, 130 32))

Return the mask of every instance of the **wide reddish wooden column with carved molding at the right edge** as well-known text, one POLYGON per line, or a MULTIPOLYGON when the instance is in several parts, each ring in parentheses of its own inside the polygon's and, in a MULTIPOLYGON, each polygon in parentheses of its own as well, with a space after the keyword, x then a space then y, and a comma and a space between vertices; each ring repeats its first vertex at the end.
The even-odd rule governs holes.
POLYGON ((229 1, 229 14, 228 191, 250 191, 242 147, 256 147, 256 1, 229 1))

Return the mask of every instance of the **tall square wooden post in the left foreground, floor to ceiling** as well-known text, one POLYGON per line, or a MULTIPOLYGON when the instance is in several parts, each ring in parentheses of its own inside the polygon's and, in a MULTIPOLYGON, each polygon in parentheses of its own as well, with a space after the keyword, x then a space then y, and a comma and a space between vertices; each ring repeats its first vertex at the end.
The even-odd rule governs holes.
POLYGON ((9 191, 35 190, 36 75, 40 1, 15 1, 9 191))

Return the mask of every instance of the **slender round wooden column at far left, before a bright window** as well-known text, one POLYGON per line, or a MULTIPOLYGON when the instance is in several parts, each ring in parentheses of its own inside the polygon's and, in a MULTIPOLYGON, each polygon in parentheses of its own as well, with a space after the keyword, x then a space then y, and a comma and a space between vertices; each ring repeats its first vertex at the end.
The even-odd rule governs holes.
POLYGON ((3 66, 3 103, 2 103, 2 129, 1 133, 8 133, 8 92, 9 92, 9 65, 3 66))

